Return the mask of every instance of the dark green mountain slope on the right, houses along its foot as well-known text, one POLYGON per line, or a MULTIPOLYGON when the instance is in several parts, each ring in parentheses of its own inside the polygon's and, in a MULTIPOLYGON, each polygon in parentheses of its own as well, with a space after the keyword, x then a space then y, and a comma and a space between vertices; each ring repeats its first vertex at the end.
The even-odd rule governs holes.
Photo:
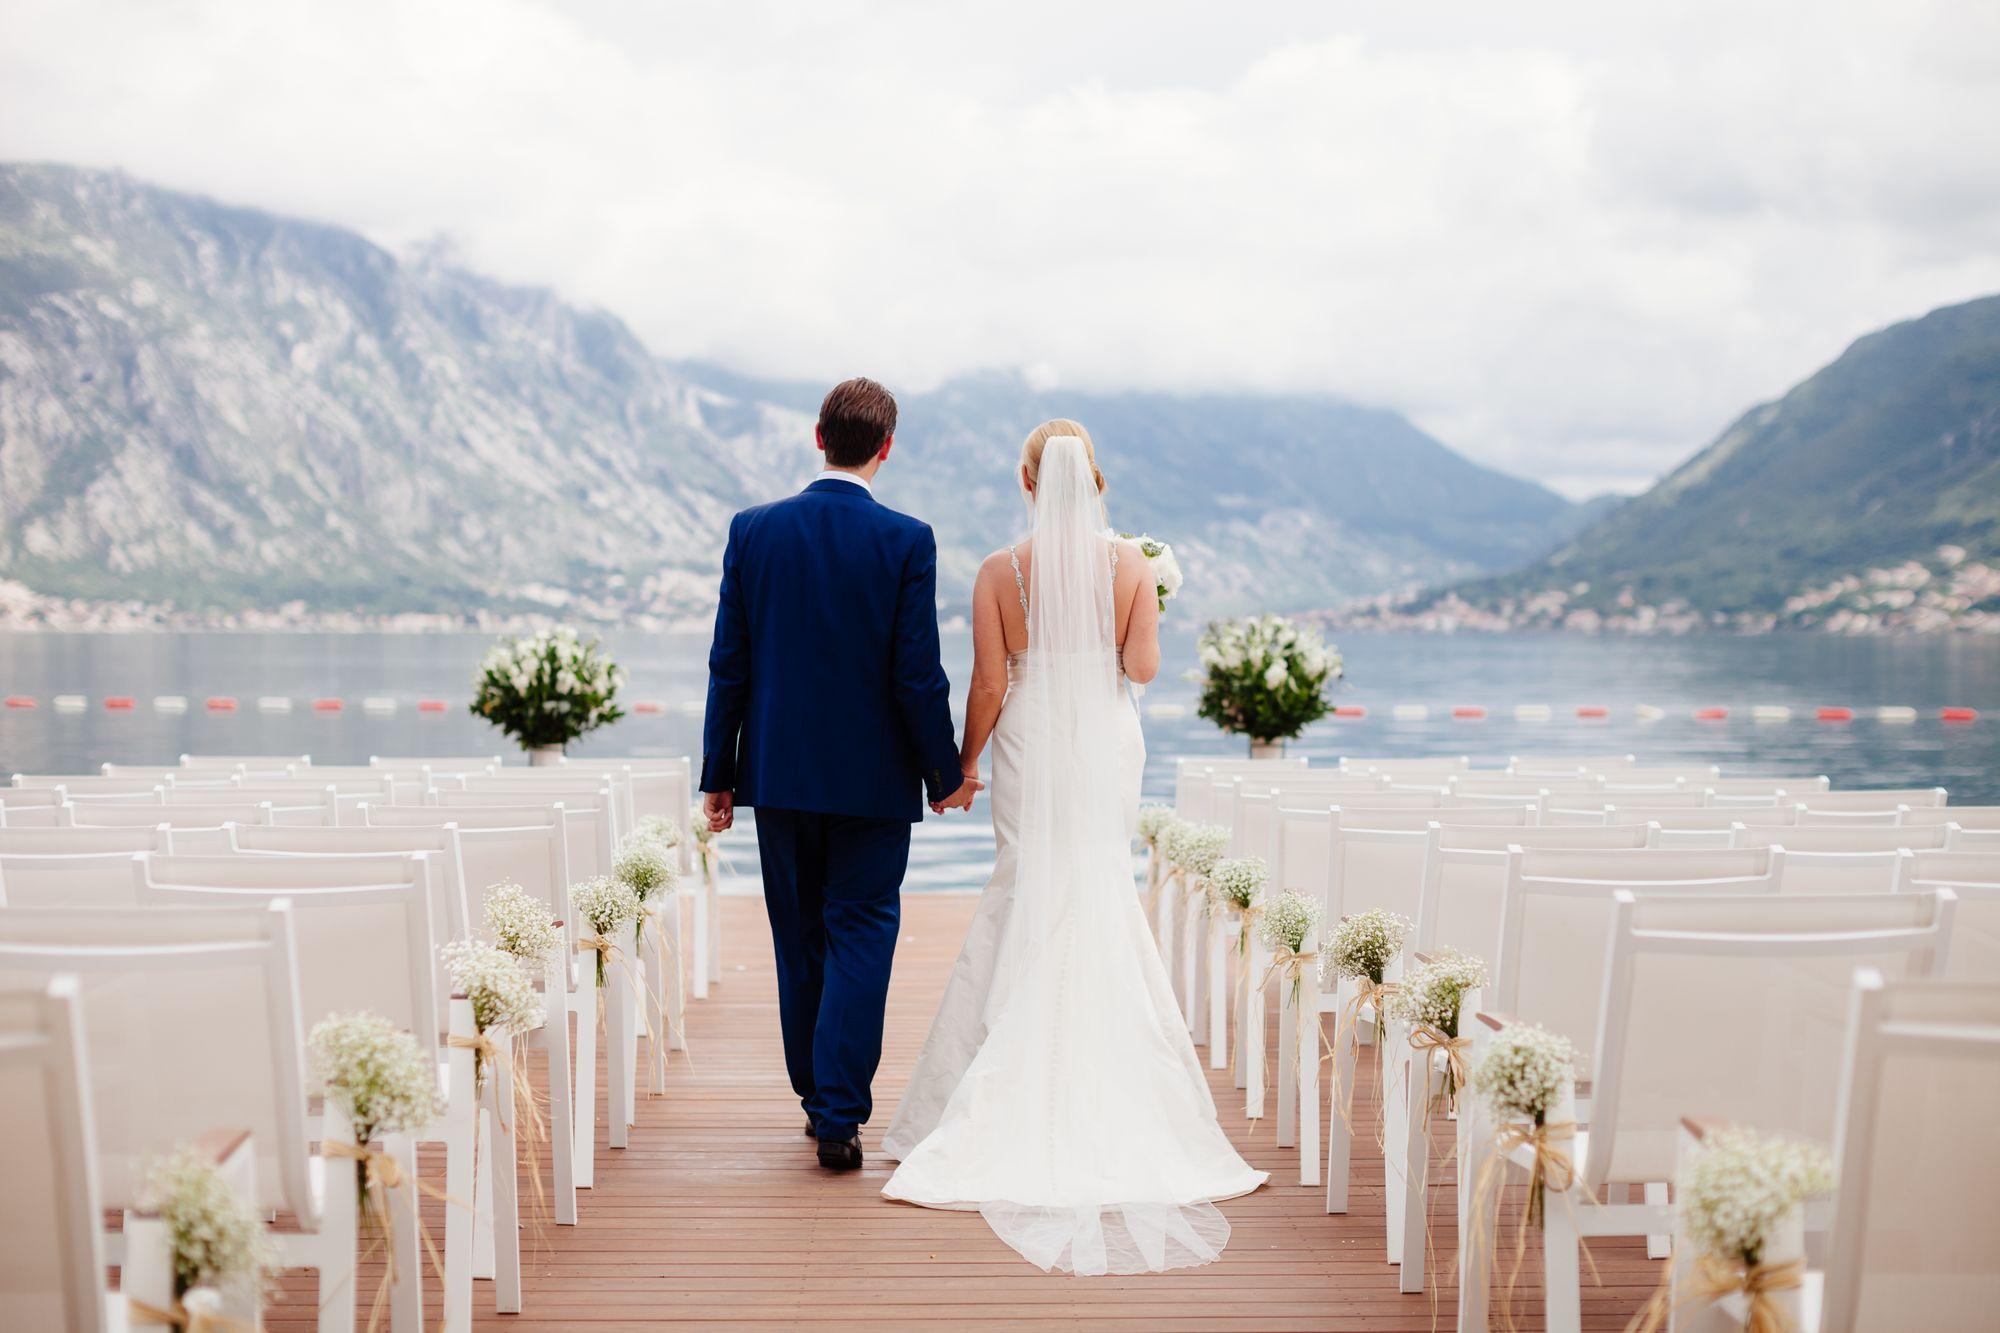
POLYGON ((1512 622, 1838 628, 1986 614, 2000 556, 2000 296, 1858 338, 1646 494, 1450 588, 1512 622))

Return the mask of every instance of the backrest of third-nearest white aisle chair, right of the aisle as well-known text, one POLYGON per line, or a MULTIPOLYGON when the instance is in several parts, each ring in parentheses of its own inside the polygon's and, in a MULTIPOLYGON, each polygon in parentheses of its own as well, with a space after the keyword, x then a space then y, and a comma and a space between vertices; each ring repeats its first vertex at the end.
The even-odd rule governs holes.
POLYGON ((1778 849, 1510 851, 1486 1003, 1562 1033, 1578 1053, 1590 1051, 1620 889, 1714 897, 1776 893, 1782 883, 1778 849))

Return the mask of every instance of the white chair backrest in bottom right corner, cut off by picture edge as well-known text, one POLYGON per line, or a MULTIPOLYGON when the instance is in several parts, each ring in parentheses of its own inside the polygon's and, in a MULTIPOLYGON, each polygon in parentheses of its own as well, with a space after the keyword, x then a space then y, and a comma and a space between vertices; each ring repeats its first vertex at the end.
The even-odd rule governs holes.
POLYGON ((2000 1309, 2000 983, 1854 979, 1822 1329, 1980 1329, 2000 1309))

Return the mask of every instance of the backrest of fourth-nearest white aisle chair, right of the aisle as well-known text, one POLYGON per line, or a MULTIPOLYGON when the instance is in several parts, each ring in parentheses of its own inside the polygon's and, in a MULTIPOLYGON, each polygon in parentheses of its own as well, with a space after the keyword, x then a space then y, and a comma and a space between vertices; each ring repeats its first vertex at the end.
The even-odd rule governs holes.
POLYGON ((1424 839, 1424 877, 1418 889, 1412 953, 1458 949, 1484 959, 1500 957, 1500 899, 1506 889, 1508 849, 1632 851, 1646 847, 1646 825, 1490 829, 1432 823, 1424 839))

